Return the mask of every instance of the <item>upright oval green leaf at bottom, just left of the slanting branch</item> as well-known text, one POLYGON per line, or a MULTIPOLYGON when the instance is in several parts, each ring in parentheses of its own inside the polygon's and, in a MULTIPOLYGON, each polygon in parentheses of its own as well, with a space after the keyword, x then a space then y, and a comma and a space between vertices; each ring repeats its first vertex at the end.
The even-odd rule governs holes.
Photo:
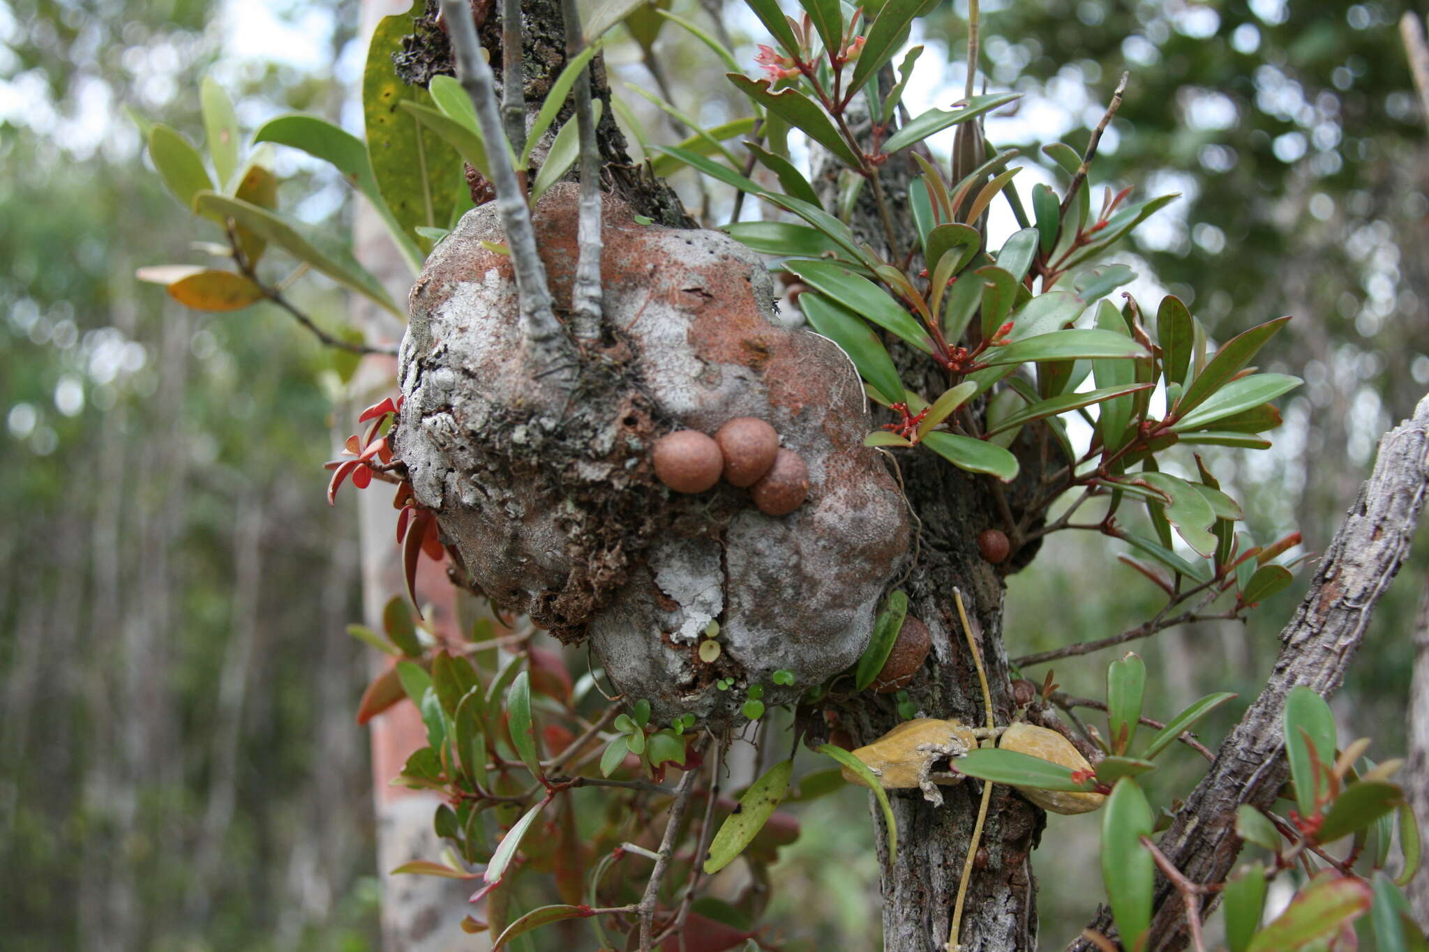
POLYGON ((1123 776, 1102 811, 1102 881, 1112 901, 1112 918, 1127 949, 1137 948, 1152 923, 1156 864, 1142 845, 1156 818, 1136 781, 1123 776))

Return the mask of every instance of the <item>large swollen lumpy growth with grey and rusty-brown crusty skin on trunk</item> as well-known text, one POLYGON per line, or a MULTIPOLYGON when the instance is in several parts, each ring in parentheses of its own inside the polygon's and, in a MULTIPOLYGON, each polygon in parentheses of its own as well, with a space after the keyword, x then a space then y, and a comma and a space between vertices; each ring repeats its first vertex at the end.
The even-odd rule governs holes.
MULTIPOLYGON (((576 261, 576 190, 534 213, 557 311, 576 261)), ((907 545, 905 505, 879 457, 863 393, 829 341, 773 318, 756 255, 726 236, 637 224, 607 198, 606 337, 573 390, 530 375, 510 263, 492 206, 469 213, 413 290, 396 448, 417 500, 473 585, 566 641, 589 637, 617 689, 660 716, 736 716, 742 689, 846 668, 907 545), (760 514, 720 484, 680 495, 654 480, 653 442, 769 421, 809 468, 809 500, 760 514), (722 627, 713 664, 699 634, 722 627), (717 691, 720 678, 737 689, 717 691)))

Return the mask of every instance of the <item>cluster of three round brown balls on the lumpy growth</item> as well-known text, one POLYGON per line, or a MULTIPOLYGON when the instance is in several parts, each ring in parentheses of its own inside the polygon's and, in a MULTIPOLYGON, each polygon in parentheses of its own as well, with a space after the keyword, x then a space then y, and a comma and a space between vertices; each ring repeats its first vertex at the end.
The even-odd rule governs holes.
POLYGON ((789 515, 809 497, 809 467, 763 420, 736 417, 714 437, 676 430, 654 444, 654 475, 676 492, 703 492, 719 482, 749 488, 765 515, 789 515))

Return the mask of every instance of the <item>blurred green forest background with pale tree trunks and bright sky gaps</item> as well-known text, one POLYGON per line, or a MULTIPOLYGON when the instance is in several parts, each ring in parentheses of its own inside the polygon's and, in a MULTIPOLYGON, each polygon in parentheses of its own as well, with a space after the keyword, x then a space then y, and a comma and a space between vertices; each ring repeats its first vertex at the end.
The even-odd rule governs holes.
MULTIPOLYGON (((742 4, 673 10, 707 26, 719 16, 753 71, 765 37, 742 4)), ((1176 293, 1219 340, 1296 315, 1269 348, 1268 370, 1306 380, 1275 450, 1215 454, 1213 467, 1256 538, 1300 530, 1306 551, 1323 548, 1379 434, 1429 388, 1429 137, 1396 30, 1403 4, 982 10, 989 88, 1026 93, 989 138, 1026 146, 1030 161, 1043 143, 1083 146, 1130 70, 1093 180, 1185 196, 1115 255, 1142 274, 1143 304, 1176 293)), ((920 27, 933 56, 912 106, 957 98, 965 11, 966 0, 945 4, 920 27)), ((199 315, 134 281, 136 267, 193 260, 190 243, 213 236, 163 191, 124 116, 200 141, 197 86, 211 74, 246 128, 307 110, 360 134, 357 20, 353 1, 0 0, 6 949, 377 948, 367 736, 353 722, 367 649, 344 634, 360 615, 357 522, 352 497, 327 508, 320 468, 347 414, 343 368, 266 305, 199 315)), ((612 37, 613 87, 669 143, 683 134, 623 86, 653 86, 643 56, 612 37)), ((722 66, 687 33, 667 27, 653 56, 686 116, 735 116, 722 66)), ((350 227, 352 193, 334 176, 292 153, 277 163, 282 207, 350 227)), ((676 183, 699 206, 690 173, 676 183)), ((340 294, 317 281, 294 293, 342 325, 340 294)), ((1105 540, 1070 535, 1012 579, 1010 654, 1155 611, 1156 591, 1105 540)), ((1342 731, 1373 735, 1379 758, 1405 744, 1429 551, 1415 559, 1335 699, 1342 731)), ((1143 644, 1163 685, 1149 714, 1212 689, 1253 695, 1303 588, 1302 577, 1249 625, 1143 644)), ((1107 658, 1072 661, 1057 681, 1095 695, 1107 658)), ((1239 715, 1229 707, 1208 738, 1239 715)), ((1202 768, 1177 764, 1162 784, 1202 768)), ((776 869, 782 935, 875 948, 863 796, 819 801, 802 819, 776 869)), ((1099 893, 1082 888, 1097 882, 1096 824, 1053 819, 1039 854, 1049 945, 1075 935, 1099 893)))

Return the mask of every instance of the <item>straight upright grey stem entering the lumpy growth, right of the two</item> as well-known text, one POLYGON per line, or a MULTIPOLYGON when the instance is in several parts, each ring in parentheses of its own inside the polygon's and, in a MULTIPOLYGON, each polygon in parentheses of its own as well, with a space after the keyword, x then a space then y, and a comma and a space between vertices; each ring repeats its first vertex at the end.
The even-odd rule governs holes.
MULTIPOLYGON (((566 20, 566 59, 586 47, 576 0, 560 0, 566 20)), ((594 113, 590 106, 590 64, 576 77, 576 128, 580 134, 580 224, 576 244, 576 280, 570 291, 572 337, 600 340, 600 148, 596 146, 594 113)))

